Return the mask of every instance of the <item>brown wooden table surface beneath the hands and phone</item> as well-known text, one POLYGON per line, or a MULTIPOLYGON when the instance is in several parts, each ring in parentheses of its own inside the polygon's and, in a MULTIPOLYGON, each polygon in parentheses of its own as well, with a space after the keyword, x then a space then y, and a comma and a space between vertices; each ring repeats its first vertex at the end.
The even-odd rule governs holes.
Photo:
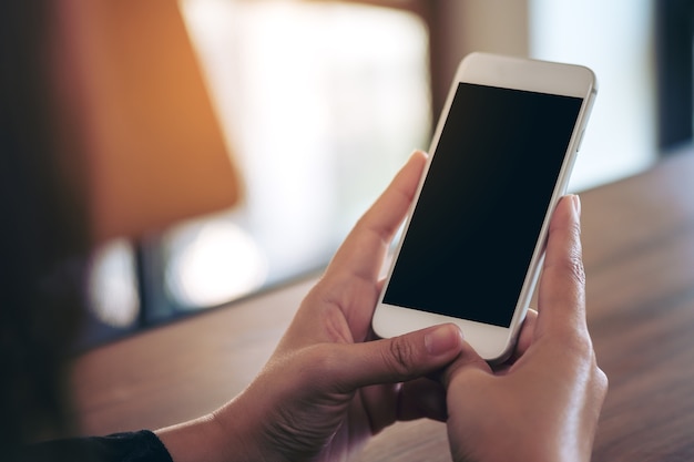
MULTIPOLYGON (((694 460, 694 153, 585 192, 582 202, 589 327, 610 378, 593 460, 694 460)), ((153 429, 215 409, 259 370, 312 284, 78 358, 82 431, 153 429)), ((396 424, 359 460, 450 461, 445 427, 396 424)))

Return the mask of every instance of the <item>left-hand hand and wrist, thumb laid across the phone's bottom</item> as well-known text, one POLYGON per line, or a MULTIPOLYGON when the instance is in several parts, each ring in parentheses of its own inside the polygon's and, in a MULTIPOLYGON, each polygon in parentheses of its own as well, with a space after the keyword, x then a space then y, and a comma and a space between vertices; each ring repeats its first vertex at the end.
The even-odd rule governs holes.
POLYGON ((382 259, 425 163, 416 153, 357 223, 253 383, 214 414, 157 432, 176 462, 340 461, 397 420, 446 419, 442 387, 422 377, 458 356, 460 330, 375 340, 370 329, 382 259))

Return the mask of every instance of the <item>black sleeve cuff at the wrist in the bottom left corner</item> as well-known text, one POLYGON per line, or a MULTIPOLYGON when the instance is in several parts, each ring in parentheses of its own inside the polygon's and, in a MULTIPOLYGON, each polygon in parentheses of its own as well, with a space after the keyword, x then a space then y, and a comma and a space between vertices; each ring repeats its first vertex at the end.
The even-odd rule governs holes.
POLYGON ((18 462, 173 462, 160 439, 149 430, 108 437, 75 438, 33 444, 18 462))

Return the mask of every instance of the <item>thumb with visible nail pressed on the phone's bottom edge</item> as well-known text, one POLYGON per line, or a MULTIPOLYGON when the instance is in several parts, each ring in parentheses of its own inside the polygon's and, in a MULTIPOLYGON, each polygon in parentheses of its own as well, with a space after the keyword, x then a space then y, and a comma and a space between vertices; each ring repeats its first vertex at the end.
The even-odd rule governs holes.
POLYGON ((389 339, 350 345, 340 382, 350 388, 416 379, 451 362, 465 341, 458 326, 446 324, 389 339))

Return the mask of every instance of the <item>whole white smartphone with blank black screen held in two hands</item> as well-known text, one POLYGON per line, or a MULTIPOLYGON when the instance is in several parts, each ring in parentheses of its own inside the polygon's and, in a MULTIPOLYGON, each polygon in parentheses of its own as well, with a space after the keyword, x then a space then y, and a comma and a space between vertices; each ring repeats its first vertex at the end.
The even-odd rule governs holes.
POLYGON ((455 322, 490 363, 509 357, 596 91, 580 65, 462 60, 376 306, 378 336, 455 322))

